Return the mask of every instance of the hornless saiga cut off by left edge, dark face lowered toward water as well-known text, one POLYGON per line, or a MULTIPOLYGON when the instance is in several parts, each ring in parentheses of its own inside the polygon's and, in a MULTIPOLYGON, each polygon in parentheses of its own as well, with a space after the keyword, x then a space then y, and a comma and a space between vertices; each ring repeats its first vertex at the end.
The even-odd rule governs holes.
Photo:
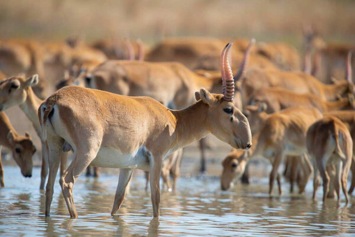
POLYGON ((22 136, 16 132, 4 112, 0 113, 0 187, 4 187, 4 169, 1 162, 1 146, 12 151, 12 157, 21 169, 24 177, 32 176, 32 156, 36 151, 31 136, 26 133, 22 136))

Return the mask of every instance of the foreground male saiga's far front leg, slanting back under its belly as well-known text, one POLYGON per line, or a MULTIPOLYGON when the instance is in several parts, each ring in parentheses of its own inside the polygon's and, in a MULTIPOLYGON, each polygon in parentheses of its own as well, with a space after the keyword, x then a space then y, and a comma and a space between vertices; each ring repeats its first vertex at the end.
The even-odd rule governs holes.
POLYGON ((126 195, 127 185, 130 184, 130 180, 132 178, 133 169, 121 169, 120 176, 118 179, 118 185, 116 189, 115 201, 113 204, 113 208, 111 211, 111 216, 115 215, 118 209, 120 208, 123 199, 126 195))

